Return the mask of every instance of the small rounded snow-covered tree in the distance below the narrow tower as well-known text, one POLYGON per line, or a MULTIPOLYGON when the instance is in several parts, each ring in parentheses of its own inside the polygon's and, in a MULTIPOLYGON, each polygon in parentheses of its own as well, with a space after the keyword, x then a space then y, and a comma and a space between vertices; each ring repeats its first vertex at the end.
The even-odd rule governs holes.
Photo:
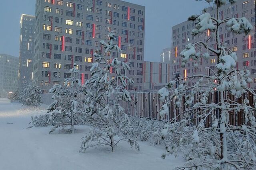
POLYGON ((23 90, 19 92, 18 100, 26 106, 40 106, 42 103, 42 92, 35 84, 28 84, 23 90))

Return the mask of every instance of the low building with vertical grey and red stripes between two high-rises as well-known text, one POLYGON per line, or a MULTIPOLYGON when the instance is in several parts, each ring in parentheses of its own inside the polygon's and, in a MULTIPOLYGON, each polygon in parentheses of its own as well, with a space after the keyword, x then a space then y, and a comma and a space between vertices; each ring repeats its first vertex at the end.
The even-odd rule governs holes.
POLYGON ((144 61, 143 75, 144 91, 157 91, 170 82, 170 64, 144 61))

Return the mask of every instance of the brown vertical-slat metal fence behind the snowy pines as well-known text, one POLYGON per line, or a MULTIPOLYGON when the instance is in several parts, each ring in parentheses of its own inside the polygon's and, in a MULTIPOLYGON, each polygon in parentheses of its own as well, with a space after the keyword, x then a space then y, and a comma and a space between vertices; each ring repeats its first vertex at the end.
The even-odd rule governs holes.
MULTIPOLYGON (((254 90, 256 91, 256 90, 254 90)), ((171 94, 171 92, 170 92, 171 94)), ((180 102, 180 106, 175 106, 175 101, 171 100, 169 105, 169 114, 165 115, 165 117, 160 117, 159 112, 163 105, 163 102, 160 101, 160 96, 157 92, 130 92, 130 96, 132 98, 131 102, 124 102, 120 101, 120 105, 124 107, 125 112, 128 115, 132 116, 138 116, 138 117, 144 117, 148 119, 156 119, 156 120, 167 120, 173 119, 176 117, 176 121, 179 121, 182 119, 182 115, 178 116, 180 113, 185 111, 188 107, 186 106, 186 100, 185 98, 182 98, 182 102, 180 102)), ((242 104, 242 101, 247 98, 249 100, 249 105, 251 107, 254 107, 255 98, 252 96, 250 92, 248 92, 247 95, 243 95, 241 98, 238 98, 235 100, 234 96, 230 94, 230 92, 224 92, 224 100, 228 102, 228 99, 234 100, 239 104, 242 104)), ((220 93, 219 92, 213 92, 208 97, 208 104, 214 103, 217 104, 220 100, 220 93)), ((195 102, 200 101, 200 96, 195 96, 195 102)), ((194 111, 188 112, 191 114, 192 117, 195 117, 195 114, 202 113, 202 109, 198 109, 195 113, 194 111)), ((219 110, 215 109, 213 112, 216 117, 219 116, 219 110)), ((256 115, 256 112, 254 111, 254 116, 256 115)), ((232 125, 242 125, 245 123, 245 116, 244 111, 230 111, 230 124, 232 125)), ((199 119, 192 119, 194 124, 197 124, 199 119)), ((205 121, 206 127, 211 126, 212 120, 211 117, 207 117, 205 121)))

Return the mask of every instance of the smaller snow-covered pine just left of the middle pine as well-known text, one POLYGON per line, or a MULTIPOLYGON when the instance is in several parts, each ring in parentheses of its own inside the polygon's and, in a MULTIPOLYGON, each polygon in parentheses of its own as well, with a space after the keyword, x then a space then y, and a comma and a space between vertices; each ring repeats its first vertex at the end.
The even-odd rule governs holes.
POLYGON ((80 103, 82 99, 78 98, 79 93, 82 94, 82 84, 76 63, 74 63, 70 72, 72 73, 72 78, 64 80, 64 86, 70 84, 70 87, 64 88, 60 84, 55 84, 49 90, 49 93, 54 94, 52 96, 54 102, 48 106, 47 112, 52 113, 48 123, 52 122, 55 125, 49 133, 52 133, 56 128, 64 129, 66 127, 70 127, 68 131, 74 133, 74 125, 78 125, 83 121, 83 106, 80 103))

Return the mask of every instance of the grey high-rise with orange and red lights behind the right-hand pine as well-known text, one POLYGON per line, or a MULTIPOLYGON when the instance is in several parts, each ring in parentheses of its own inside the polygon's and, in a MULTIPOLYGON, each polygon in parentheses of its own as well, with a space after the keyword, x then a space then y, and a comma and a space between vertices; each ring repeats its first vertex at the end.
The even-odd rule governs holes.
MULTIPOLYGON (((208 12, 211 16, 216 16, 216 7, 208 7, 203 12, 208 12)), ((219 27, 220 41, 222 44, 226 44, 233 52, 236 52, 238 61, 236 67, 243 69, 246 67, 250 70, 250 77, 253 82, 248 84, 251 88, 256 89, 256 35, 255 35, 255 0, 239 0, 235 4, 226 4, 219 9, 220 19, 225 18, 241 18, 245 17, 253 25, 254 30, 249 35, 240 34, 236 35, 230 31, 225 24, 219 27)), ((195 43, 203 41, 212 48, 215 48, 215 37, 211 36, 210 30, 204 31, 196 36, 192 36, 192 29, 195 28, 195 24, 192 21, 185 21, 172 27, 172 79, 175 79, 174 74, 180 72, 179 76, 191 76, 193 74, 210 74, 209 68, 214 70, 214 66, 217 63, 217 57, 211 56, 209 60, 202 59, 199 62, 198 68, 194 68, 194 62, 188 61, 185 68, 181 68, 180 52, 185 49, 188 43, 195 43)), ((197 48, 196 52, 201 54, 206 53, 204 48, 197 48)), ((210 55, 212 53, 209 52, 210 55)), ((197 81, 197 80, 194 80, 197 81)), ((191 84, 191 82, 188 82, 191 84)))

